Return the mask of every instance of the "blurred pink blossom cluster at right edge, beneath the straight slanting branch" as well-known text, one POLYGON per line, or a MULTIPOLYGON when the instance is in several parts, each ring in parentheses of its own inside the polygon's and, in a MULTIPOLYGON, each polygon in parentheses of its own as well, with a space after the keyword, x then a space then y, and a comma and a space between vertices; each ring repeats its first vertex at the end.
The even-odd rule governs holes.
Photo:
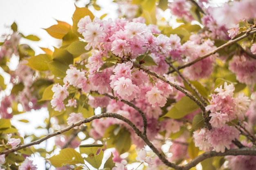
POLYGON ((234 55, 229 62, 229 70, 236 74, 236 79, 241 83, 256 83, 256 60, 247 55, 234 55))

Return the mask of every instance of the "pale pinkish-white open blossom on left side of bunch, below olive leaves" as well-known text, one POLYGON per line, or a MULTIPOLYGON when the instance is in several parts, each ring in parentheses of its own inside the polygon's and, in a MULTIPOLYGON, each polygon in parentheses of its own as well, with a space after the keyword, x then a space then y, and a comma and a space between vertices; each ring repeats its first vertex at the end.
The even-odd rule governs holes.
POLYGON ((81 79, 85 77, 85 72, 76 69, 75 67, 70 67, 67 69, 66 76, 63 79, 65 84, 69 83, 78 88, 82 88, 81 79))

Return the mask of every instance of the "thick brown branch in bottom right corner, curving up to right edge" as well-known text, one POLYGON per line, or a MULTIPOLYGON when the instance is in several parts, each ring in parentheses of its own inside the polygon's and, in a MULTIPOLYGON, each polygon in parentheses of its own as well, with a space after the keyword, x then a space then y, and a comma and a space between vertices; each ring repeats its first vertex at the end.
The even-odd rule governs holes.
POLYGON ((181 170, 189 170, 190 168, 196 166, 201 161, 211 158, 211 157, 220 157, 220 156, 227 156, 227 155, 251 155, 256 156, 256 149, 255 148, 239 148, 239 149, 230 149, 226 150, 225 152, 216 152, 216 151, 209 151, 204 152, 203 154, 199 155, 186 165, 184 165, 181 170))

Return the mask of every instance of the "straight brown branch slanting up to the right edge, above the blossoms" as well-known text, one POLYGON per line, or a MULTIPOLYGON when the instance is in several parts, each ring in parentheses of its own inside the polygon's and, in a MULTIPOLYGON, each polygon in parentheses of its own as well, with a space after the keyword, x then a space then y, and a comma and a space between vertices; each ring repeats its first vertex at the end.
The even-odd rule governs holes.
MULTIPOLYGON (((251 29, 250 29, 250 30, 251 30, 251 29)), ((202 57, 198 57, 198 58, 195 59, 194 61, 189 62, 189 63, 187 63, 187 64, 184 64, 183 66, 178 66, 177 69, 180 70, 180 69, 182 69, 182 68, 189 67, 189 66, 195 64, 196 62, 199 62, 199 61, 205 59, 206 57, 209 57, 210 55, 213 55, 213 54, 217 53, 217 52, 220 51, 221 49, 224 49, 225 47, 227 47, 227 46, 229 46, 229 45, 231 45, 231 44, 234 44, 235 42, 238 42, 239 40, 243 40, 244 38, 248 37, 249 35, 252 35, 252 34, 256 33, 256 30, 255 30, 255 29, 253 29, 252 31, 250 31, 250 30, 249 30, 249 31, 246 31, 244 35, 242 35, 242 36, 240 36, 240 37, 238 37, 238 38, 236 38, 236 39, 234 39, 234 40, 229 40, 229 41, 226 42, 225 44, 223 44, 223 45, 219 46, 218 48, 216 48, 215 50, 213 50, 213 51, 211 51, 211 52, 209 52, 209 53, 203 55, 202 57)), ((169 73, 173 73, 173 72, 175 72, 175 70, 169 71, 168 74, 169 74, 169 73)))

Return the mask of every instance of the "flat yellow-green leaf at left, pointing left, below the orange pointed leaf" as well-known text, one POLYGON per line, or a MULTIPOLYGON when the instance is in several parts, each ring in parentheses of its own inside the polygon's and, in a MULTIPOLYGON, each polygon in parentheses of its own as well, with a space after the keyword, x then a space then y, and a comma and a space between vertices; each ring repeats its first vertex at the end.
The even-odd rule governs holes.
POLYGON ((51 56, 48 54, 39 54, 32 56, 28 59, 27 66, 37 71, 47 71, 49 70, 48 62, 51 61, 51 56))

